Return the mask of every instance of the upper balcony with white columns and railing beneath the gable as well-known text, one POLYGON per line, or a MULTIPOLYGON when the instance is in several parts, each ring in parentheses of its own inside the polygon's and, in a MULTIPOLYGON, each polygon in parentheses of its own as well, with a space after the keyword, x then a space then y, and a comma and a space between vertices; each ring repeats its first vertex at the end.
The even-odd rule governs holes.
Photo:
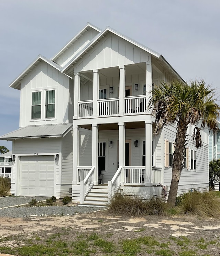
POLYGON ((146 62, 76 73, 74 119, 147 114, 153 85, 162 78, 146 62))

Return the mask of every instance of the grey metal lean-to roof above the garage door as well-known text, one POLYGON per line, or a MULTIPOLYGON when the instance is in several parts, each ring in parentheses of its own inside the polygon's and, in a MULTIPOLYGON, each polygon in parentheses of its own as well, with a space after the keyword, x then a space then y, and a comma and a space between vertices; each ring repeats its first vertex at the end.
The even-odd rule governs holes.
POLYGON ((2 140, 43 138, 43 137, 64 137, 73 127, 73 124, 56 125, 31 125, 9 132, 0 136, 2 140))

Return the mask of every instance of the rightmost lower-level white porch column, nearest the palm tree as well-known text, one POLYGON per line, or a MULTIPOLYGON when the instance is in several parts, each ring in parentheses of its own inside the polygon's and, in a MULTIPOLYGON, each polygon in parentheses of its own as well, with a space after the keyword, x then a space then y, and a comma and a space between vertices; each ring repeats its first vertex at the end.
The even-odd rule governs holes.
POLYGON ((145 186, 152 186, 152 121, 145 121, 145 186))

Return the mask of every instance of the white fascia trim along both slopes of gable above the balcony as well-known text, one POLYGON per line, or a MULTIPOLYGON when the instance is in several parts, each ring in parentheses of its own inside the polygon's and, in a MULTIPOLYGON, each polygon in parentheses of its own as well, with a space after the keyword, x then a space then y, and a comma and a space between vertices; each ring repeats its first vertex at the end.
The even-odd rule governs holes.
POLYGON ((134 42, 134 41, 132 41, 131 39, 128 39, 128 38, 126 38, 125 36, 121 35, 119 32, 116 32, 115 30, 112 30, 111 28, 107 27, 106 29, 104 29, 103 31, 101 31, 91 42, 89 42, 88 45, 85 46, 85 47, 75 56, 75 58, 73 58, 72 60, 70 60, 70 61, 63 67, 63 69, 62 69, 61 72, 65 72, 65 70, 66 70, 74 61, 76 61, 76 59, 79 58, 79 56, 80 56, 82 53, 84 53, 89 47, 91 47, 91 46, 94 44, 94 42, 96 42, 100 37, 102 37, 102 35, 103 35, 106 31, 112 32, 113 34, 115 34, 115 35, 121 37, 122 39, 124 39, 124 40, 126 40, 126 41, 132 43, 133 45, 135 45, 135 46, 141 48, 142 50, 144 50, 144 51, 150 53, 151 55, 153 55, 153 56, 155 56, 155 57, 157 57, 157 58, 160 57, 159 53, 156 53, 156 52, 153 52, 153 51, 151 51, 151 50, 149 50, 149 49, 146 49, 145 47, 139 45, 137 42, 134 42))

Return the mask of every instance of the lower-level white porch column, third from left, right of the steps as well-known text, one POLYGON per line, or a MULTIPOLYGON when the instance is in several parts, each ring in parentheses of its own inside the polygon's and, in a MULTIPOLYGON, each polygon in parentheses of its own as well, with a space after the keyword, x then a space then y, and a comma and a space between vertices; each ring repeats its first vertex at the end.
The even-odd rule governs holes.
POLYGON ((118 166, 122 166, 122 185, 124 185, 124 165, 125 165, 125 124, 118 123, 119 141, 118 141, 118 166))

